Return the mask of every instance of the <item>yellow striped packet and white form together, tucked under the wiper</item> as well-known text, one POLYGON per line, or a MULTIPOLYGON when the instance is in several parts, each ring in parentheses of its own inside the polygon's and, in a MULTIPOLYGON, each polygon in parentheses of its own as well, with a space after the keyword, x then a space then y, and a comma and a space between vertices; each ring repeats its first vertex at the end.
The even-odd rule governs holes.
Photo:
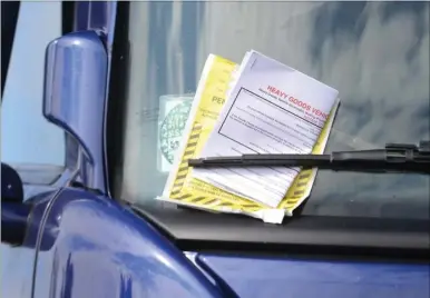
POLYGON ((241 66, 211 54, 158 199, 282 222, 310 195, 316 169, 193 169, 187 160, 323 153, 338 96, 335 89, 256 51, 247 52, 241 66))

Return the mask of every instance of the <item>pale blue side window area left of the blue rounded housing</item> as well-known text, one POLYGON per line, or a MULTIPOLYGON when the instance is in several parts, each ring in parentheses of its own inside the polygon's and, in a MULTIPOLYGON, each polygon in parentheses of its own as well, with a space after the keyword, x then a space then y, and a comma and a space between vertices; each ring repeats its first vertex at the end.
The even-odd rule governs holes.
POLYGON ((1 106, 2 161, 65 163, 63 131, 42 116, 45 49, 60 34, 59 3, 21 4, 1 106))

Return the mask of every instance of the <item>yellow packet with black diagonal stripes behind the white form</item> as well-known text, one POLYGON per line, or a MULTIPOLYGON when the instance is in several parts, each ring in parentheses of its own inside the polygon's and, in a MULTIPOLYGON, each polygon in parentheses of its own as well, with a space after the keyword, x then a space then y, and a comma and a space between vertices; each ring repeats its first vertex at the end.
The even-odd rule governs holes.
MULTIPOLYGON (((301 170, 281 202, 276 207, 268 207, 194 178, 187 163, 188 159, 201 157, 224 108, 227 93, 232 91, 232 81, 238 68, 238 64, 215 54, 207 58, 182 143, 163 195, 157 199, 213 212, 242 213, 265 222, 280 224, 284 216, 292 216, 293 210, 309 197, 316 169, 301 170)), ((338 107, 339 100, 328 115, 312 153, 323 153, 338 107)))

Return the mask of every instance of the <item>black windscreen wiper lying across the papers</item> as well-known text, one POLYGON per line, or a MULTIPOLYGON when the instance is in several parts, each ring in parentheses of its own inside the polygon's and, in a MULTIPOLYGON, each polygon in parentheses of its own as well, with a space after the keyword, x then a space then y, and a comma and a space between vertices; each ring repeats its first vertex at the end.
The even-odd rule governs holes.
POLYGON ((430 141, 387 143, 385 149, 338 151, 331 155, 242 155, 189 159, 189 167, 304 167, 335 171, 430 173, 430 141))

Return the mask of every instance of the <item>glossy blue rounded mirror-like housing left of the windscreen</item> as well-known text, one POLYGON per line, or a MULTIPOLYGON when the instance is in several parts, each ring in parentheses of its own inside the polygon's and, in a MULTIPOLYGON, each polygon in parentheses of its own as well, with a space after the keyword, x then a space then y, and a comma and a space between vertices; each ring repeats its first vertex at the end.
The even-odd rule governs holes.
POLYGON ((105 109, 108 56, 95 31, 51 41, 46 51, 43 116, 80 145, 81 182, 107 193, 105 109))

